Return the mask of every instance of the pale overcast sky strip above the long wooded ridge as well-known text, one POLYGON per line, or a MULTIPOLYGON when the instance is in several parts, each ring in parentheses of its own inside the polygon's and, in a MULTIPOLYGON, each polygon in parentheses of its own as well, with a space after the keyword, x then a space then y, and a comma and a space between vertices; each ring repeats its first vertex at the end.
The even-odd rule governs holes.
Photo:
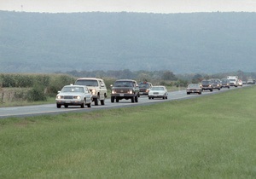
POLYGON ((256 0, 0 0, 0 10, 26 12, 256 12, 256 0))

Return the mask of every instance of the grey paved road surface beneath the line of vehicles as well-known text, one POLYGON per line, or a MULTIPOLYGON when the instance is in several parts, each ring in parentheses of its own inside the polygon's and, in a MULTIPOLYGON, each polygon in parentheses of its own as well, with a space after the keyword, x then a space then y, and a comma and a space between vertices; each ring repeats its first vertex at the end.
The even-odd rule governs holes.
POLYGON ((118 108, 118 107, 134 107, 138 105, 149 105, 157 102, 165 102, 172 100, 181 100, 189 99, 194 97, 200 97, 203 95, 213 95, 218 94, 227 90, 236 90, 240 88, 247 87, 248 85, 243 85, 242 87, 230 87, 230 89, 222 90, 213 90, 203 91, 201 95, 191 94, 187 95, 186 90, 173 91, 168 93, 168 99, 163 100, 161 98, 155 98, 154 100, 148 100, 148 96, 142 95, 139 97, 138 102, 131 103, 131 100, 121 100, 119 102, 111 103, 110 99, 105 100, 105 105, 94 106, 92 103, 91 107, 80 108, 78 107, 61 107, 57 108, 56 104, 46 104, 46 105, 37 105, 37 106, 26 106, 26 107, 0 107, 0 118, 9 118, 9 117, 27 117, 27 116, 36 116, 36 115, 45 115, 45 114, 58 114, 58 113, 81 113, 81 112, 90 112, 93 110, 102 110, 109 108, 118 108))

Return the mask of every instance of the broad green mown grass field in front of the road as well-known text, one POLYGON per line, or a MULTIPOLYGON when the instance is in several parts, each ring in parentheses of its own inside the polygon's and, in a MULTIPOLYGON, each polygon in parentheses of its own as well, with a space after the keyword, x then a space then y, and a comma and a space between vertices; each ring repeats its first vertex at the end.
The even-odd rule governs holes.
POLYGON ((0 120, 0 178, 255 178, 255 87, 0 120))

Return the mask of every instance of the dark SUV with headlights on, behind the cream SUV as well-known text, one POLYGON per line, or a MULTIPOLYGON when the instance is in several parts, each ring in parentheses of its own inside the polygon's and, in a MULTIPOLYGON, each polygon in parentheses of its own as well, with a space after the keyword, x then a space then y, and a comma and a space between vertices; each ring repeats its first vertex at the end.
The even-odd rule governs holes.
POLYGON ((137 81, 133 79, 119 79, 111 85, 111 102, 119 102, 119 100, 130 100, 138 102, 139 88, 137 81))

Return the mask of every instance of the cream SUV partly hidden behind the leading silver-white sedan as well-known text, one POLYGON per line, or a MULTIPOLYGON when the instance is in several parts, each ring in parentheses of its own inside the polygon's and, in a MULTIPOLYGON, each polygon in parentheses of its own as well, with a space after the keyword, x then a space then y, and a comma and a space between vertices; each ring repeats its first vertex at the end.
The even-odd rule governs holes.
POLYGON ((101 105, 105 105, 105 99, 107 98, 107 87, 100 78, 78 78, 75 85, 85 85, 90 90, 92 95, 92 101, 94 101, 95 106, 98 106, 99 101, 101 105))

